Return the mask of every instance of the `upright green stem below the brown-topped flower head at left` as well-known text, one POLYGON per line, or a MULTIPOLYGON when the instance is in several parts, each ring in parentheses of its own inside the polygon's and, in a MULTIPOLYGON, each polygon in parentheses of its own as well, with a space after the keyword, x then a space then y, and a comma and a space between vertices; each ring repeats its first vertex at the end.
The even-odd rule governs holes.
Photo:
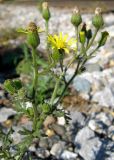
POLYGON ((32 58, 33 58, 33 69, 34 69, 34 78, 33 78, 33 109, 34 109, 34 119, 33 119, 33 128, 36 127, 36 120, 38 118, 38 111, 36 106, 36 89, 37 89, 37 82, 38 82, 38 70, 37 70, 37 63, 36 63, 36 49, 32 48, 32 58))

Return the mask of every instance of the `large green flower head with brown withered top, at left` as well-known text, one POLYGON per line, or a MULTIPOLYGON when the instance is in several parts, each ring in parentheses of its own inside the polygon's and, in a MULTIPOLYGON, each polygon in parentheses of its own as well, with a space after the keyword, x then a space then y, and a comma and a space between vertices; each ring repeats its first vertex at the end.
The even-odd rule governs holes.
POLYGON ((40 38, 37 31, 37 26, 34 22, 30 22, 27 28, 27 43, 29 46, 36 48, 40 44, 40 38))

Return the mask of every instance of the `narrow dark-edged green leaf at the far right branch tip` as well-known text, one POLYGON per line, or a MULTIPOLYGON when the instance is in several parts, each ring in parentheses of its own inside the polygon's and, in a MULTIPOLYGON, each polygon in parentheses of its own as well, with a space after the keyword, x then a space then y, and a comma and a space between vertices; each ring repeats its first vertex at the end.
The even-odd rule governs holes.
POLYGON ((109 36, 109 33, 107 31, 104 31, 101 33, 101 39, 98 43, 98 48, 105 45, 108 36, 109 36))

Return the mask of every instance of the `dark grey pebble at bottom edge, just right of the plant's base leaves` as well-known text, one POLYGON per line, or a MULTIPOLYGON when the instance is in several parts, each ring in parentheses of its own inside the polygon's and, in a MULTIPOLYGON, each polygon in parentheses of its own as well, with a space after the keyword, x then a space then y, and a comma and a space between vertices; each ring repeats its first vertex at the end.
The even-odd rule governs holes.
POLYGON ((37 148, 35 153, 38 158, 47 158, 50 155, 50 152, 44 148, 37 148))

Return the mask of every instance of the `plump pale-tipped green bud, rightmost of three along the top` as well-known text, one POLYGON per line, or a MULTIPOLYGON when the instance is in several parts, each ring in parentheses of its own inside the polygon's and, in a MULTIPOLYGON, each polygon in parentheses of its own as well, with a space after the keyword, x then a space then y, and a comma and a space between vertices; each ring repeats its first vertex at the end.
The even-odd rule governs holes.
POLYGON ((92 23, 96 29, 100 29, 101 27, 103 27, 104 20, 101 14, 101 8, 96 8, 95 16, 93 17, 92 23))

